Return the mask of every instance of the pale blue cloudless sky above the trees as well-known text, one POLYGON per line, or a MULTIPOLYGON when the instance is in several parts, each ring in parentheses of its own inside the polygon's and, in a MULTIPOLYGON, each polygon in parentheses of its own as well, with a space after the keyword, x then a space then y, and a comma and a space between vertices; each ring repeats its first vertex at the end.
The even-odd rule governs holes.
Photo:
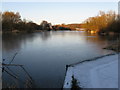
POLYGON ((117 2, 4 2, 2 11, 19 12, 22 19, 40 24, 47 20, 52 24, 81 23, 99 10, 117 12, 117 2))

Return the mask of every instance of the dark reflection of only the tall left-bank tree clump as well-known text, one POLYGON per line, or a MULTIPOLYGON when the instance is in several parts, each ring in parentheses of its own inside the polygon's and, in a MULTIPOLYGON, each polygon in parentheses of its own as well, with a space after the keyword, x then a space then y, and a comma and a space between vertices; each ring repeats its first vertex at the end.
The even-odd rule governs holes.
POLYGON ((34 34, 3 34, 3 51, 20 50, 26 42, 32 42, 34 34))

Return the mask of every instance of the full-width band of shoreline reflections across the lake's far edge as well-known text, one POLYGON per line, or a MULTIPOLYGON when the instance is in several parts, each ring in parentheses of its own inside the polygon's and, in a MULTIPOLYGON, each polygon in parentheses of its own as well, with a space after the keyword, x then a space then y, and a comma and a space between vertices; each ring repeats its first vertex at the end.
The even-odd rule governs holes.
POLYGON ((58 32, 40 32, 40 33, 30 33, 30 34, 4 34, 3 35, 3 40, 2 40, 2 48, 3 51, 14 51, 17 50, 19 51, 22 48, 22 45, 26 45, 28 42, 33 42, 36 38, 40 37, 43 41, 48 40, 51 36, 84 36, 86 38, 82 38, 84 40, 87 40, 89 42, 94 42, 96 44, 103 44, 101 42, 108 41, 108 42, 113 42, 117 36, 96 36, 96 34, 91 34, 91 33, 85 33, 85 32, 64 32, 64 31, 58 31, 58 32))

